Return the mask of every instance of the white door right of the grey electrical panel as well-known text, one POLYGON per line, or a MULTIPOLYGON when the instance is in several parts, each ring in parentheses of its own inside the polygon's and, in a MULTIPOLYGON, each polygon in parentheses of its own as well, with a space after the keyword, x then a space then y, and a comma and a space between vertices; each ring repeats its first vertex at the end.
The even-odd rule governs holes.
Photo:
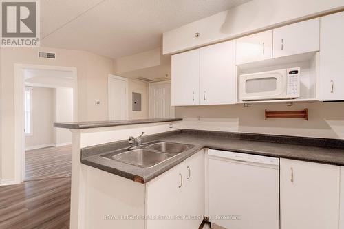
POLYGON ((171 82, 149 84, 149 118, 174 118, 171 106, 171 82))

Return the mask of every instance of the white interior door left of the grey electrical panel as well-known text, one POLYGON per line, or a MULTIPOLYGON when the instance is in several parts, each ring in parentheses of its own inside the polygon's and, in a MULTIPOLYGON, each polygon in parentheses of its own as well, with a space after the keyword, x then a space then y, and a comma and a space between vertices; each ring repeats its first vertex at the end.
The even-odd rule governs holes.
POLYGON ((109 120, 128 118, 128 79, 109 75, 109 120))

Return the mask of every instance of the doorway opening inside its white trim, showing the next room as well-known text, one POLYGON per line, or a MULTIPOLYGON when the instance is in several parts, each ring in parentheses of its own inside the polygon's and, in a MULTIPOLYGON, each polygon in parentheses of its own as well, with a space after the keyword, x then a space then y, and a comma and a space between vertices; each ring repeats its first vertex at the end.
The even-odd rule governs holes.
POLYGON ((54 122, 73 121, 71 71, 25 69, 25 181, 71 176, 72 133, 54 122))

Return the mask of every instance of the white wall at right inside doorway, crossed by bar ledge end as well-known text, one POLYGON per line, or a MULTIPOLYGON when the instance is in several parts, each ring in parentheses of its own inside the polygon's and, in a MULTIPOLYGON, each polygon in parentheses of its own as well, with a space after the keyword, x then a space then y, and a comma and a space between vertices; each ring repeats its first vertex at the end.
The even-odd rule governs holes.
MULTIPOLYGON (((73 122, 73 89, 58 87, 54 89, 54 98, 54 122, 73 122)), ((54 128, 54 144, 72 144, 72 133, 69 129, 54 128)))

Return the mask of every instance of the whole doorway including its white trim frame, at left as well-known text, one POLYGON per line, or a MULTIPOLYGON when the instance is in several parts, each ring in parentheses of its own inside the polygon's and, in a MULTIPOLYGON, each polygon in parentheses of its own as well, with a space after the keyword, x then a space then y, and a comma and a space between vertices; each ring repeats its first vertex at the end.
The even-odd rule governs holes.
POLYGON ((76 77, 74 67, 14 65, 15 183, 27 180, 28 163, 30 180, 70 176, 71 133, 52 124, 77 120, 76 77), (25 150, 34 151, 28 160, 25 150))

